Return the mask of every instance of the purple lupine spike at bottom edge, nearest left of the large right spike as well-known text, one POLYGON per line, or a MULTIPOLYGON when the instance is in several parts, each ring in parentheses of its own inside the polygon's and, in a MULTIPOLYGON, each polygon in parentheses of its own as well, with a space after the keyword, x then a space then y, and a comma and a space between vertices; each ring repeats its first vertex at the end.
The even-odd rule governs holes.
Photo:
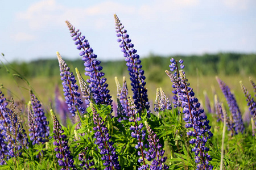
POLYGON ((148 131, 148 139, 150 149, 147 152, 147 160, 151 161, 150 169, 169 169, 169 167, 164 164, 167 157, 164 155, 164 150, 162 149, 162 144, 159 143, 159 139, 154 131, 151 130, 147 121, 144 122, 148 131))

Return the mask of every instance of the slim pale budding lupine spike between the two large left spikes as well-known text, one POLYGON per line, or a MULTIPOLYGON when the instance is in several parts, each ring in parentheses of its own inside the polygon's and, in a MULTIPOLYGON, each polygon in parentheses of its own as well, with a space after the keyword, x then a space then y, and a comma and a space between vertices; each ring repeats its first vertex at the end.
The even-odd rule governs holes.
POLYGON ((80 72, 77 68, 76 68, 76 75, 77 75, 77 78, 79 79, 82 97, 84 98, 85 104, 89 105, 90 100, 93 100, 92 92, 90 91, 89 86, 87 85, 85 80, 82 78, 82 75, 80 74, 80 72))

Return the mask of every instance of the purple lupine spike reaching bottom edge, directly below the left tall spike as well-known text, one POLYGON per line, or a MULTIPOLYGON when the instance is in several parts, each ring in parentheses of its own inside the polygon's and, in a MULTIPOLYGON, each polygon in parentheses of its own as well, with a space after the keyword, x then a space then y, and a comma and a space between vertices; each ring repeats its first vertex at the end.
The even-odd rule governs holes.
POLYGON ((90 108, 93 112, 93 122, 96 126, 93 127, 94 138, 96 138, 95 144, 98 145, 98 148, 101 150, 100 154, 102 155, 102 160, 104 161, 103 165, 108 169, 121 169, 121 166, 118 162, 118 156, 115 152, 114 142, 110 141, 111 135, 109 135, 109 130, 104 124, 104 120, 97 113, 96 108, 94 108, 93 103, 90 103, 90 108))

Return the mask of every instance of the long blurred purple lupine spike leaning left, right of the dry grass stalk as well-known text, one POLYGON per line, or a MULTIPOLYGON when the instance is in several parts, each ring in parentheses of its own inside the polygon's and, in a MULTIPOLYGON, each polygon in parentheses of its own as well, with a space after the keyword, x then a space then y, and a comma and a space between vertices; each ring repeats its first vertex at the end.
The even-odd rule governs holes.
POLYGON ((237 105, 236 98, 230 91, 230 88, 220 78, 216 76, 216 80, 220 85, 220 88, 224 96, 226 97, 226 101, 228 102, 229 111, 232 113, 232 118, 234 121, 234 128, 236 133, 238 133, 239 131, 243 133, 243 130, 245 129, 245 125, 243 125, 242 115, 237 105))

